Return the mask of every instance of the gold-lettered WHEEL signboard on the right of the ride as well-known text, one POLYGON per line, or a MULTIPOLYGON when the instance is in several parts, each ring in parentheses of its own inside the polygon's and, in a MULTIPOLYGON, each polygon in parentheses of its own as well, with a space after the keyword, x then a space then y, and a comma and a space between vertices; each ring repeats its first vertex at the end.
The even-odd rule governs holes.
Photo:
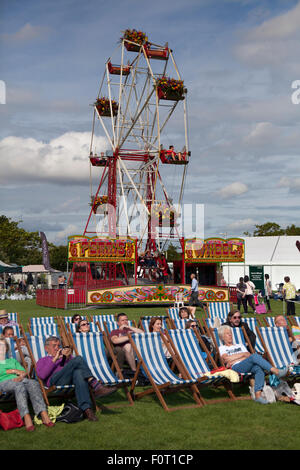
POLYGON ((186 263, 242 263, 245 261, 245 240, 242 238, 207 238, 185 240, 186 263))

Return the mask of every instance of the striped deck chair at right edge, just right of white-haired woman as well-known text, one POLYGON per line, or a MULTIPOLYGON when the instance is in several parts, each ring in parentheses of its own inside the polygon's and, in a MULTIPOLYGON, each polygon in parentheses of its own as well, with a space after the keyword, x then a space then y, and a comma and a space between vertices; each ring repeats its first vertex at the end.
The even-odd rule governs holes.
MULTIPOLYGON (((264 345, 267 359, 272 366, 277 368, 288 367, 297 364, 296 354, 293 352, 288 333, 284 327, 259 327, 256 329, 264 345)), ((289 378, 299 376, 296 372, 290 372, 289 378)))

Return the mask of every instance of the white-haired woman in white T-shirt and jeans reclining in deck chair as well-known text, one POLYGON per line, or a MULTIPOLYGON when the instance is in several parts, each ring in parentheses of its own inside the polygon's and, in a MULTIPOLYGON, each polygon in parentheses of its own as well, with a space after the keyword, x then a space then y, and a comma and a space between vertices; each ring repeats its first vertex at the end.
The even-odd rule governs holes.
POLYGON ((255 401, 266 405, 268 402, 261 396, 265 383, 265 371, 281 378, 287 375, 288 369, 277 369, 259 354, 250 354, 243 344, 233 344, 232 330, 228 325, 221 325, 218 334, 223 342, 219 351, 225 367, 240 374, 254 374, 255 401))

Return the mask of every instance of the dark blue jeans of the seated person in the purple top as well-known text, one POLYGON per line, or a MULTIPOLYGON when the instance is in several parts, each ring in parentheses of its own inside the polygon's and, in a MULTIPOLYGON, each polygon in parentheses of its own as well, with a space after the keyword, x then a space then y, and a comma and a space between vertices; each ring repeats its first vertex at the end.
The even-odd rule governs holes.
POLYGON ((92 407, 88 380, 93 377, 87 363, 81 356, 71 359, 60 371, 53 374, 50 385, 75 385, 75 395, 82 411, 92 407))

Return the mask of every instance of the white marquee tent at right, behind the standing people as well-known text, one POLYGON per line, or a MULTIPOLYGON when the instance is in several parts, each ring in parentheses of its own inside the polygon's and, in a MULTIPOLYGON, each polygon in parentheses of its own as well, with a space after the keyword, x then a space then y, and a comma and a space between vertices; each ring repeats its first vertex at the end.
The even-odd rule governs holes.
POLYGON ((300 251, 296 242, 300 236, 244 237, 245 263, 223 263, 224 279, 236 285, 241 276, 249 275, 249 266, 264 266, 269 274, 273 290, 289 276, 300 289, 300 251))

